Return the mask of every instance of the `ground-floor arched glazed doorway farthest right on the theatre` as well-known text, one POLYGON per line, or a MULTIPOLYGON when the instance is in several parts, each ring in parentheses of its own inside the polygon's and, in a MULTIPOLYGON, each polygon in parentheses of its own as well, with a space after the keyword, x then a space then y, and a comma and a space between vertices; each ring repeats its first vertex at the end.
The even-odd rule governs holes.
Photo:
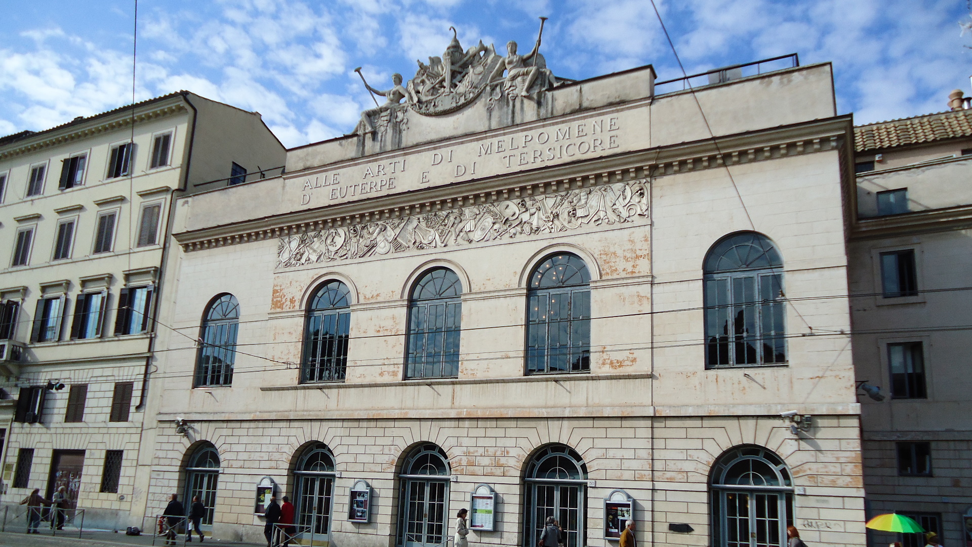
POLYGON ((784 547, 793 524, 793 483, 780 456, 735 447, 712 466, 712 545, 784 547))

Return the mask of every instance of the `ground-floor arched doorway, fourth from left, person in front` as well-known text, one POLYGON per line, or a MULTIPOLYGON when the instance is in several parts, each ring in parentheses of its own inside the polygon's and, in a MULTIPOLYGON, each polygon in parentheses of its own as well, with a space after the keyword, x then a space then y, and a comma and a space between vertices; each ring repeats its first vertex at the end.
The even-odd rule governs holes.
POLYGON ((557 519, 567 533, 566 547, 580 547, 586 542, 584 504, 587 465, 566 445, 549 445, 539 450, 527 465, 524 504, 526 514, 525 547, 538 547, 540 533, 547 517, 557 519))

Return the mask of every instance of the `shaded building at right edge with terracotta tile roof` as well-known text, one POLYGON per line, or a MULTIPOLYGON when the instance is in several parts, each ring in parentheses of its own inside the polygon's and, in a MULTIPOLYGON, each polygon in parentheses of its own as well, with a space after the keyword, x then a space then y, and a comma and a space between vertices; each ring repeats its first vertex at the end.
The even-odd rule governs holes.
MULTIPOLYGON (((884 397, 861 397, 868 516, 910 515, 943 545, 965 545, 972 542, 972 110, 854 133, 854 363, 858 383, 880 386, 884 397)), ((924 545, 913 534, 871 538, 924 545)))

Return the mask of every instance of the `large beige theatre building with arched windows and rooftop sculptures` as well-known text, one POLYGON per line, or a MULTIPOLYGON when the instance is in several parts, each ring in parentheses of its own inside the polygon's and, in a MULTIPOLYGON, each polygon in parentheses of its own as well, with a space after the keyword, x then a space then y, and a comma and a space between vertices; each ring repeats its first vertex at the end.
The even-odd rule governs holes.
POLYGON ((261 541, 263 486, 305 540, 432 547, 469 507, 472 543, 580 547, 630 499, 644 544, 863 545, 830 65, 656 94, 494 55, 176 201, 148 512, 261 541))

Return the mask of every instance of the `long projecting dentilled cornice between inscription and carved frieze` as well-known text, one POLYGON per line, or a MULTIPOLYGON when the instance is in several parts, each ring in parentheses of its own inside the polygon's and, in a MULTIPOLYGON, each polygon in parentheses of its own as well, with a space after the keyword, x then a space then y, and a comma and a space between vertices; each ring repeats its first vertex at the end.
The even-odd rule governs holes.
POLYGON ((587 162, 521 171, 388 198, 295 211, 182 232, 173 237, 185 252, 237 245, 521 196, 837 151, 845 146, 851 131, 851 119, 840 116, 796 126, 748 131, 587 162))

